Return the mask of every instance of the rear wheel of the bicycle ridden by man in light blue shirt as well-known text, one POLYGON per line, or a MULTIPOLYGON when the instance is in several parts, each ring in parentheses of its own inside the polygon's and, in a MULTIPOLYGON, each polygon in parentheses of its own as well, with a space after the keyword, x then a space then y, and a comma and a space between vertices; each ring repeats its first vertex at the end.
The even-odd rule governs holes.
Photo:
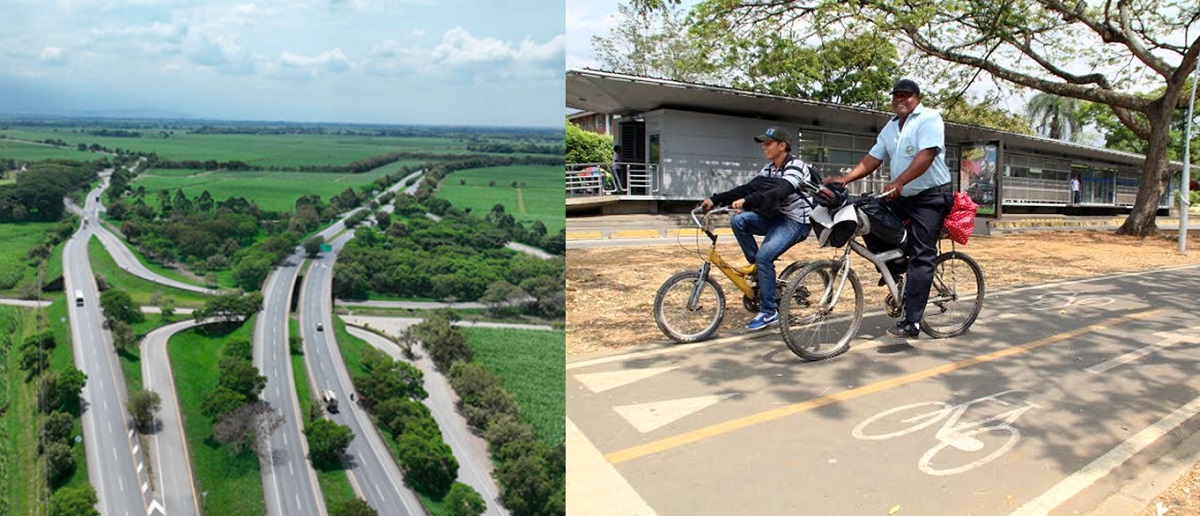
POLYGON ((962 335, 979 317, 983 298, 979 264, 958 251, 942 253, 934 262, 934 284, 920 329, 934 338, 962 335))

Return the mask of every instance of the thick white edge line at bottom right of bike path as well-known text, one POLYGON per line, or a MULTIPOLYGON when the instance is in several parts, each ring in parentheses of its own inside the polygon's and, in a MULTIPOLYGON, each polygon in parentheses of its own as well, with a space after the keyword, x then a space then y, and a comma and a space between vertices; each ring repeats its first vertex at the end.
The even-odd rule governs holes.
MULTIPOLYGON (((1020 509, 1013 512, 1013 516, 1049 514, 1075 494, 1079 494, 1079 492, 1084 491, 1092 484, 1096 484, 1096 481, 1102 479, 1104 475, 1108 475, 1117 466, 1128 461, 1129 457, 1133 457, 1139 451, 1146 449, 1146 446, 1154 444, 1154 442, 1159 438, 1175 430, 1175 427, 1180 426, 1180 424, 1187 421, 1196 413, 1200 413, 1200 397, 1175 409, 1175 412, 1168 414, 1153 425, 1150 425, 1141 432, 1138 432, 1129 439, 1126 439, 1116 448, 1109 450, 1109 452, 1102 455, 1082 469, 1046 490, 1046 492, 1042 493, 1042 496, 1030 500, 1025 505, 1021 505, 1020 509)), ((570 426, 570 420, 568 420, 568 426, 570 426)), ((570 434, 570 430, 568 430, 568 434, 570 434)), ((568 460, 570 460, 570 456, 568 456, 568 460)), ((568 484, 568 488, 570 488, 570 484, 568 484)), ((570 499, 570 497, 568 497, 568 499, 570 499)))

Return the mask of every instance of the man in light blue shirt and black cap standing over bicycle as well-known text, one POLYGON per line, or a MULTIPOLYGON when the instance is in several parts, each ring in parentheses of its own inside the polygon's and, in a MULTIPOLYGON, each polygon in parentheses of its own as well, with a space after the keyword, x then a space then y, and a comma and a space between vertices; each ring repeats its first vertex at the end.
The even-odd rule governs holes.
POLYGON ((845 176, 827 178, 824 182, 856 181, 888 161, 892 182, 883 188, 892 192, 888 206, 901 220, 912 220, 905 244, 908 284, 904 289, 904 317, 888 334, 914 338, 929 301, 937 238, 953 204, 953 192, 942 114, 920 104, 920 88, 910 79, 896 80, 892 88, 892 109, 896 115, 880 131, 870 152, 845 176))

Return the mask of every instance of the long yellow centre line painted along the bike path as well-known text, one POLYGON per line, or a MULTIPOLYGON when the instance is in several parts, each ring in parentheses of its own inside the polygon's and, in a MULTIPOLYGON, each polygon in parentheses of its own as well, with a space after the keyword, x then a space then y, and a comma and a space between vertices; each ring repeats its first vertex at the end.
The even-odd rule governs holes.
POLYGON ((901 385, 907 385, 914 382, 920 382, 926 378, 932 378, 936 376, 946 374, 953 371, 958 371, 965 367, 970 367, 977 364, 989 362, 992 360, 1003 359, 1006 356, 1012 356, 1040 348, 1046 344, 1052 344, 1055 342, 1062 342, 1068 338, 1078 337, 1084 334, 1090 334, 1093 331, 1099 331, 1105 328, 1111 328, 1118 324, 1129 323, 1138 319, 1144 319, 1158 313, 1164 312, 1163 308, 1151 310, 1146 312, 1133 313, 1124 317, 1118 317, 1116 319, 1110 319, 1103 323, 1093 324, 1090 326, 1084 326, 1076 330, 1066 331, 1062 334, 1051 335, 1045 338, 1040 338, 1033 342, 1028 342, 1020 346, 1014 346, 1012 348, 1004 348, 998 352, 985 353, 982 355, 972 356, 970 359, 959 360, 956 362, 946 364, 942 366, 932 367, 925 371, 918 371, 914 373, 905 374, 902 377, 890 378, 883 382, 877 382, 870 385, 863 385, 860 388, 850 389, 846 391, 832 394, 828 396, 822 396, 818 398, 793 403, 786 407, 779 407, 767 412, 760 412, 757 414, 751 414, 744 418, 734 419, 731 421, 719 422, 716 425, 706 426, 703 428, 697 428, 691 432, 680 433, 678 436, 671 436, 664 439, 654 440, 646 444, 640 444, 637 446, 626 448, 624 450, 613 451, 605 455, 612 464, 619 464, 622 462, 632 461, 635 458, 641 458, 648 455, 659 454, 674 448, 679 448, 686 444, 696 443, 709 437, 716 437, 725 433, 730 433, 737 430, 748 428, 755 425, 761 425, 764 422, 774 421, 780 418, 786 418, 788 415, 799 414, 802 412, 811 410, 815 408, 821 408, 828 404, 850 401, 858 397, 863 397, 870 394, 880 392, 883 390, 898 388, 901 385))

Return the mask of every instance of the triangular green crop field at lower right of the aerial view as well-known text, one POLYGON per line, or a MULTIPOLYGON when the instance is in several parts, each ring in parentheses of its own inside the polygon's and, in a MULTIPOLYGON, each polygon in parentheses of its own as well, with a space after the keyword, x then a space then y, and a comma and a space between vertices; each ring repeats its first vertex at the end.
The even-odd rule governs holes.
POLYGON ((557 445, 565 436, 566 336, 563 331, 462 328, 475 348, 475 360, 504 378, 517 398, 521 416, 542 443, 557 445))

